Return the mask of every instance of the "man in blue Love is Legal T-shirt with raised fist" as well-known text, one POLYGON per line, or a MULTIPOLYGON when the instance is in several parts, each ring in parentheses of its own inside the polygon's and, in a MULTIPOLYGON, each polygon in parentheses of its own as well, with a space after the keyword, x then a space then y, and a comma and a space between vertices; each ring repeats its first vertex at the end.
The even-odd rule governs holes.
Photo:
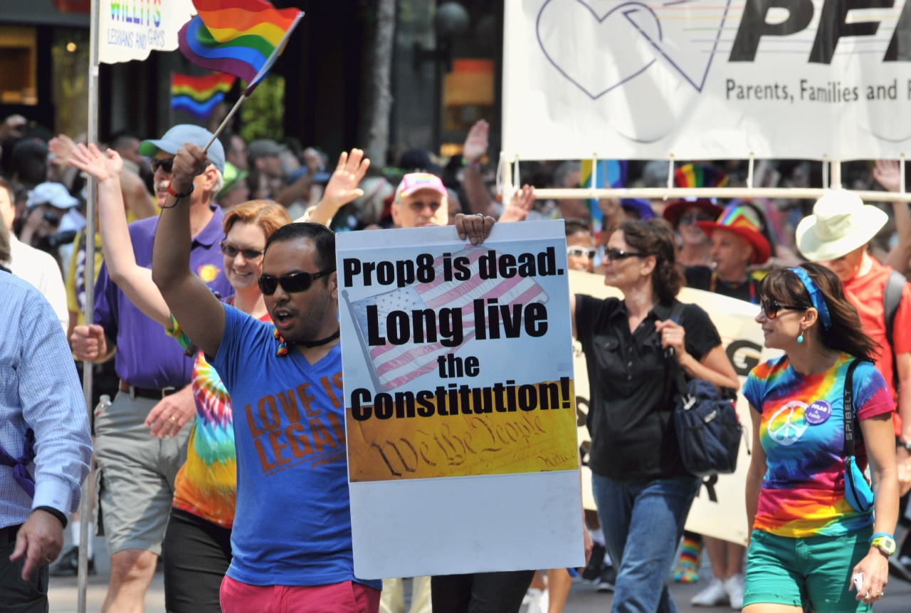
MULTIPOLYGON (((199 147, 181 148, 170 188, 185 193, 208 164, 199 147)), ((456 229, 476 243, 489 225, 458 217, 456 229)), ((380 582, 353 574, 333 233, 298 223, 272 234, 260 287, 273 327, 223 305, 190 271, 186 199, 169 198, 159 230, 153 279, 239 409, 234 558, 222 608, 268 610, 293 598, 294 610, 356 603, 375 613, 380 582), (276 517, 280 534, 266 529, 276 517)))

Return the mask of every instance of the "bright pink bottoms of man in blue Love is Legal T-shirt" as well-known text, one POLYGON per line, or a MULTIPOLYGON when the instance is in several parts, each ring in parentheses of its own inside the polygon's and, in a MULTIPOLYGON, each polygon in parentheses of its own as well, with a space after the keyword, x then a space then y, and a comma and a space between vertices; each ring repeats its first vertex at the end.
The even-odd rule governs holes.
POLYGON ((343 581, 328 586, 251 586, 225 575, 222 613, 377 613, 380 590, 343 581))

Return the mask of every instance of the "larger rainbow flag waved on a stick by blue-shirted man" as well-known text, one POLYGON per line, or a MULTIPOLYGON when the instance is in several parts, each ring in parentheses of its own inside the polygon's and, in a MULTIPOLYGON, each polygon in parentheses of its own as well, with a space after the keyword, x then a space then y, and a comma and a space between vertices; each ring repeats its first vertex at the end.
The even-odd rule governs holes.
POLYGON ((240 77, 249 95, 281 55, 302 11, 265 0, 193 0, 199 15, 178 35, 180 51, 197 66, 240 77))

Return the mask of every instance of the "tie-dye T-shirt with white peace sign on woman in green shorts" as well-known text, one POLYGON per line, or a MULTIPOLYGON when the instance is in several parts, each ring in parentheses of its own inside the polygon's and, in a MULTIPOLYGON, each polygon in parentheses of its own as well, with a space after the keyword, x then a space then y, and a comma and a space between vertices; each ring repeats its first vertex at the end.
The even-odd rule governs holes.
MULTIPOLYGON (((873 523, 873 511, 855 511, 844 499, 844 377, 854 358, 842 353, 825 373, 802 375, 786 355, 752 369, 743 395, 762 412, 760 441, 768 467, 754 529, 777 536, 844 536, 873 523)), ((859 421, 895 408, 873 363, 854 373, 859 421)), ((866 467, 863 442, 857 465, 866 467)))

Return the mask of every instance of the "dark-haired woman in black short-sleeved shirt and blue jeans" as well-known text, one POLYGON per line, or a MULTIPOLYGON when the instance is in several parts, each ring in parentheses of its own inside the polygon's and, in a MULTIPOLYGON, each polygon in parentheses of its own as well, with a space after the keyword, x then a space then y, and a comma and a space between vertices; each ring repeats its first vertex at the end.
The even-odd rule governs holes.
POLYGON ((604 282, 624 299, 572 296, 570 311, 589 369, 592 489, 619 562, 613 610, 676 613, 664 581, 700 480, 681 461, 668 361, 719 387, 739 382, 704 311, 688 304, 668 319, 683 279, 666 222, 623 223, 605 261, 604 282))

